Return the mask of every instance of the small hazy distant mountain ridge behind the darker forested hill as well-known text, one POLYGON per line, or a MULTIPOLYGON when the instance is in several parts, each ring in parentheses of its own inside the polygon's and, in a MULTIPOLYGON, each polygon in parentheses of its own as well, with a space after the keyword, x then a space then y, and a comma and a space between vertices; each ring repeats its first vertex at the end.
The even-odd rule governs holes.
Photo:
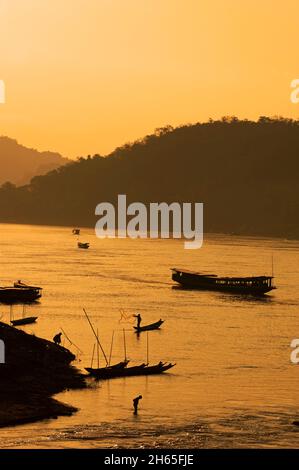
POLYGON ((44 175, 68 162, 57 152, 39 152, 0 136, 0 185, 5 182, 21 186, 37 175, 44 175))

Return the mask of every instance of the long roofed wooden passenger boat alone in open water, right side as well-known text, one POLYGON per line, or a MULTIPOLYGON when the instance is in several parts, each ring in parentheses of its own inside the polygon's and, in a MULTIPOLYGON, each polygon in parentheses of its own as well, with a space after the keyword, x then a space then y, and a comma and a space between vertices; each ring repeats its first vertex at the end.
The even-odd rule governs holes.
POLYGON ((187 269, 172 268, 172 279, 189 289, 217 290, 238 294, 261 295, 276 289, 273 276, 219 277, 187 269))

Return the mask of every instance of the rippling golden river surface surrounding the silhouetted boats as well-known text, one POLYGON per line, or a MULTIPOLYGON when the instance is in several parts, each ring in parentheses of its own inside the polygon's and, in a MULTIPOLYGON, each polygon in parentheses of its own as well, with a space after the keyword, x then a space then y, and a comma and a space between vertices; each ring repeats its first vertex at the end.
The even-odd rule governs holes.
MULTIPOLYGON (((71 417, 0 430, 1 447, 299 447, 299 242, 207 235, 199 250, 181 240, 97 239, 83 229, 0 225, 1 285, 41 285, 38 316, 27 332, 51 339, 60 328, 79 346, 75 365, 89 366, 94 345, 83 307, 112 362, 175 361, 167 374, 100 382, 57 398, 79 408, 71 417), (173 266, 227 275, 271 274, 264 298, 173 288, 173 266), (121 319, 120 311, 129 317, 121 319), (130 316, 165 320, 137 338, 130 316), (141 394, 138 416, 132 399, 141 394)), ((14 316, 21 315, 15 306, 14 316)), ((0 305, 2 321, 9 307, 0 305)), ((64 338, 64 345, 69 347, 64 338)), ((76 352, 76 348, 70 346, 76 352)), ((100 355, 101 365, 105 365, 100 355)), ((46 371, 45 371, 46 373, 46 371)))

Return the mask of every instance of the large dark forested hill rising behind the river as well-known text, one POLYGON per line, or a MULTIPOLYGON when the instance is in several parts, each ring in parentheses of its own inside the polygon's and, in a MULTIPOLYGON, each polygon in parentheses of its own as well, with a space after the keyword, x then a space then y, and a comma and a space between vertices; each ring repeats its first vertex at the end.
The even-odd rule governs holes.
POLYGON ((99 202, 204 202, 204 231, 299 238, 299 121, 223 118, 0 189, 0 221, 94 226, 99 202))

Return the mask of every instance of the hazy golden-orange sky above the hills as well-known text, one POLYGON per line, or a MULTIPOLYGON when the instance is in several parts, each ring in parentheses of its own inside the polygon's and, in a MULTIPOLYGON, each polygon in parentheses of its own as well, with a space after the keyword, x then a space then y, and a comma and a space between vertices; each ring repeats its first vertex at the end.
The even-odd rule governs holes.
POLYGON ((299 117, 298 0, 0 0, 0 134, 68 157, 166 124, 299 117))

